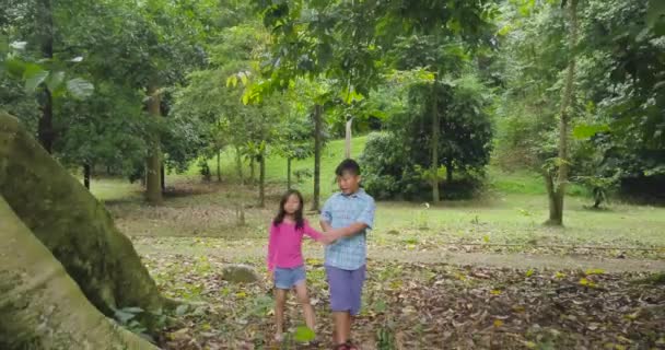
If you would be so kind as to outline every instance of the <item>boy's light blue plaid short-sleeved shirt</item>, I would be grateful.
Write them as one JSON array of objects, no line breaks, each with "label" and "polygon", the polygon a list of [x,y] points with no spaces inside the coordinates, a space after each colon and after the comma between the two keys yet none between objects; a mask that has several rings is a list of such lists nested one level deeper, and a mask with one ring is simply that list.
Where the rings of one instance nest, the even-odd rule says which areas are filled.
[{"label": "boy's light blue plaid short-sleeved shirt", "polygon": [[[330,223],[332,229],[346,228],[361,222],[372,229],[376,205],[374,198],[359,189],[353,195],[335,194],[324,205],[320,217]],[[366,232],[338,240],[326,246],[326,265],[345,270],[355,270],[365,265],[368,259]]]}]

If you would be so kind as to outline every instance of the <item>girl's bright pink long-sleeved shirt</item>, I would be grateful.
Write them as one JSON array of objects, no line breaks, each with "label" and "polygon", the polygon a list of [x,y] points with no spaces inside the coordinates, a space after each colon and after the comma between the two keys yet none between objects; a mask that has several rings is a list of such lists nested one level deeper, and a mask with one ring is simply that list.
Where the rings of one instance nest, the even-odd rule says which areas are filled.
[{"label": "girl's bright pink long-sleeved shirt", "polygon": [[302,230],[295,230],[295,223],[282,222],[279,225],[270,223],[270,241],[268,242],[268,269],[276,267],[294,268],[303,265],[303,235],[320,241],[323,234],[305,220]]}]

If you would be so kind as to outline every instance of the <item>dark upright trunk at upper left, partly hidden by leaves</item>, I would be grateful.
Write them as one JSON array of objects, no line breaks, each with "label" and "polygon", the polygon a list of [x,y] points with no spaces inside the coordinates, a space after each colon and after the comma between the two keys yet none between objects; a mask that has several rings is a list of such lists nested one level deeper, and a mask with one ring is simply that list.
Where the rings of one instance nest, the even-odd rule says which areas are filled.
[{"label": "dark upright trunk at upper left, partly hidden by leaves", "polygon": [[[54,58],[54,16],[51,2],[50,0],[39,0],[37,5],[36,27],[40,36],[42,57],[50,60]],[[54,129],[54,97],[46,84],[42,84],[40,95],[39,109],[42,110],[42,117],[38,121],[37,133],[42,147],[44,147],[46,152],[51,153],[56,138]]]}]

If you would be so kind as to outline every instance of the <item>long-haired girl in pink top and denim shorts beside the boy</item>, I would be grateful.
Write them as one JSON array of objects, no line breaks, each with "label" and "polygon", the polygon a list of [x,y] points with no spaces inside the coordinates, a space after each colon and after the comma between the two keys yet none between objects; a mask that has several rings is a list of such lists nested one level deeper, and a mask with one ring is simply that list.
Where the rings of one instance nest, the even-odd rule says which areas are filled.
[{"label": "long-haired girl in pink top and denim shorts beside the boy", "polygon": [[307,296],[305,284],[305,267],[302,255],[303,235],[329,243],[325,235],[312,229],[303,218],[303,196],[294,189],[288,190],[279,203],[279,211],[270,225],[270,241],[268,243],[268,273],[276,287],[275,318],[277,334],[275,339],[282,340],[284,304],[287,293],[295,289],[298,301],[303,305],[305,323],[314,330],[314,308]]}]

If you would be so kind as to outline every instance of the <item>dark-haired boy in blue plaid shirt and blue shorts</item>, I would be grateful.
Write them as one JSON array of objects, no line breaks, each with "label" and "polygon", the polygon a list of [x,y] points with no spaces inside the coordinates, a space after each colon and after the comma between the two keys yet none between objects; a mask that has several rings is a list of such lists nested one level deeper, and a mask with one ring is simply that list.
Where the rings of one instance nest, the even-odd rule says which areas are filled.
[{"label": "dark-haired boy in blue plaid shirt and blue shorts", "polygon": [[340,192],[324,205],[320,225],[330,241],[326,246],[326,276],[330,288],[330,308],[335,322],[335,349],[357,349],[351,341],[351,324],[360,313],[365,279],[366,230],[374,223],[374,199],[360,188],[360,166],[346,160],[337,166]]}]

